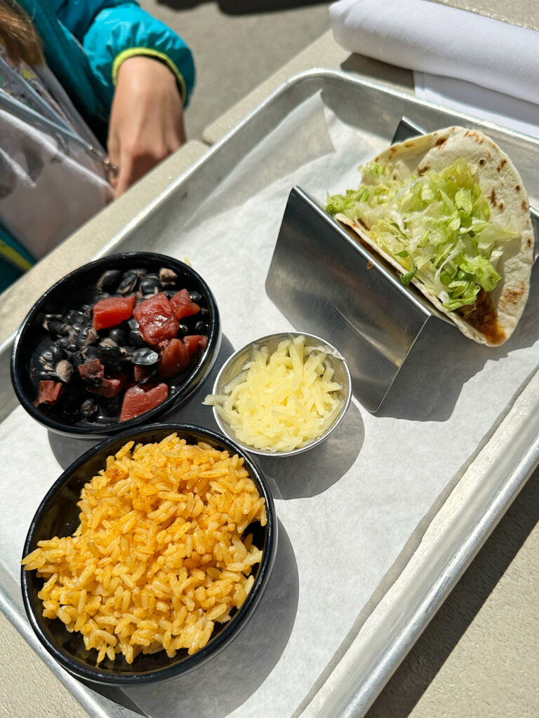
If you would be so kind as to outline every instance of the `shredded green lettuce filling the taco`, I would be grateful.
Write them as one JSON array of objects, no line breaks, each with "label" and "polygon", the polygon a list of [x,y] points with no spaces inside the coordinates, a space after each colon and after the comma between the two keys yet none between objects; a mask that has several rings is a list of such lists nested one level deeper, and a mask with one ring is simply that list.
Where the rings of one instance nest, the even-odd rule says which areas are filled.
[{"label": "shredded green lettuce filling the taco", "polygon": [[377,245],[400,258],[403,284],[414,277],[452,311],[474,304],[481,289],[501,279],[496,264],[502,246],[519,237],[489,205],[477,168],[464,157],[441,172],[394,180],[382,164],[360,167],[361,186],[328,195],[326,210],[363,225]]}]

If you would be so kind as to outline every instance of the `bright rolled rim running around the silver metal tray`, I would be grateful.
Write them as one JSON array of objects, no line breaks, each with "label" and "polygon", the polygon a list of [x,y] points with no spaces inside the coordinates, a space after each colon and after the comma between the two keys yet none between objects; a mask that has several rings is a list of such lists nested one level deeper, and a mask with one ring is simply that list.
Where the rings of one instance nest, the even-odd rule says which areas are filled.
[{"label": "bright rolled rim running around the silver metal tray", "polygon": [[[160,205],[167,202],[170,195],[173,195],[184,182],[186,182],[191,176],[199,172],[201,167],[203,167],[208,162],[211,162],[213,157],[215,157],[224,146],[229,144],[231,139],[234,139],[236,135],[241,134],[247,128],[247,126],[249,126],[250,123],[256,121],[257,118],[261,116],[268,107],[272,106],[273,103],[279,100],[281,95],[286,95],[289,91],[293,90],[296,85],[309,80],[320,80],[321,83],[323,83],[324,81],[337,80],[339,82],[343,81],[351,85],[364,86],[371,90],[382,92],[384,95],[400,98],[406,102],[412,102],[415,106],[418,106],[418,108],[425,107],[428,109],[443,111],[458,118],[461,118],[463,121],[485,127],[487,128],[487,130],[488,128],[492,128],[497,132],[510,136],[512,139],[515,139],[517,141],[523,141],[531,148],[539,151],[538,139],[522,134],[515,130],[507,129],[505,127],[497,125],[496,123],[481,120],[479,118],[475,118],[474,116],[466,115],[465,113],[451,111],[450,108],[446,108],[436,103],[423,101],[419,98],[416,98],[413,93],[398,90],[384,82],[368,80],[362,76],[345,72],[344,70],[333,70],[331,68],[325,67],[313,67],[309,70],[303,70],[300,73],[295,73],[294,75],[291,75],[290,78],[287,78],[287,80],[285,80],[278,88],[276,88],[269,95],[267,95],[267,97],[264,98],[264,100],[259,103],[251,112],[249,112],[247,116],[242,118],[241,121],[236,123],[236,125],[231,128],[226,134],[224,134],[224,136],[218,139],[215,144],[209,147],[206,153],[201,155],[201,157],[198,157],[198,159],[195,159],[195,161],[193,162],[193,164],[190,165],[190,167],[185,169],[184,172],[180,173],[178,177],[175,177],[175,179],[170,182],[170,185],[168,185],[165,190],[160,192],[160,194],[157,195],[154,200],[149,202],[149,204],[146,205],[139,213],[137,213],[137,215],[135,215],[132,220],[129,220],[129,222],[126,223],[126,225],[124,225],[121,230],[114,233],[114,235],[109,238],[109,241],[107,241],[101,247],[101,249],[97,253],[95,253],[93,259],[97,259],[102,256],[105,256],[106,254],[114,252],[119,243],[124,241],[126,236],[129,236],[129,233],[131,233],[132,230],[134,230],[134,228],[144,220],[144,218],[147,218],[157,212],[160,208]],[[318,90],[313,90],[313,94],[317,91],[320,91],[321,89],[323,90],[323,87],[318,88]],[[294,106],[292,106],[290,109],[293,109],[293,107]],[[241,159],[242,157],[239,157],[238,161],[241,161]],[[17,332],[13,332],[9,337],[6,338],[6,340],[4,340],[4,342],[1,342],[0,357],[3,356],[4,353],[6,353],[9,360],[9,355],[11,354],[11,347],[13,345],[14,338],[16,335]],[[508,410],[508,414],[505,419],[503,419],[502,424],[504,424],[520,398],[524,400],[526,390],[529,388],[530,384],[533,383],[534,379],[537,380],[538,377],[539,370],[528,381],[525,388],[522,388],[520,393],[517,393],[517,395],[515,395],[514,404],[512,404],[512,406]],[[539,405],[539,392],[536,401]],[[9,410],[9,413],[10,412],[11,409]],[[539,417],[539,411],[535,412],[535,416]],[[1,419],[1,421],[3,421],[3,419]],[[497,426],[497,428],[494,429],[491,437],[489,437],[489,442],[487,442],[487,446],[492,441],[492,439],[495,438],[500,428],[501,425]],[[535,436],[537,437],[538,435],[539,426],[538,430],[535,431]],[[487,449],[487,446],[483,447],[479,451],[479,454],[482,454],[482,452]],[[479,458],[479,454],[476,458]],[[468,567],[468,565],[474,559],[474,556],[476,556],[477,552],[484,544],[484,541],[486,541],[490,533],[492,533],[499,519],[502,518],[505,511],[512,503],[512,500],[516,497],[517,493],[525,484],[526,480],[528,480],[528,477],[530,477],[533,470],[535,469],[535,467],[537,467],[538,464],[539,439],[536,439],[535,443],[530,445],[530,447],[528,448],[528,453],[526,454],[526,456],[519,462],[517,470],[512,472],[511,477],[509,477],[505,481],[504,488],[499,492],[498,495],[499,505],[497,506],[497,509],[489,513],[488,516],[484,516],[482,521],[476,523],[474,532],[471,534],[471,537],[466,546],[464,546],[464,548],[466,549],[464,553],[461,552],[459,556],[456,556],[453,562],[448,565],[446,573],[443,575],[441,574],[437,582],[438,588],[433,589],[430,592],[431,597],[430,602],[428,602],[428,605],[421,608],[420,615],[415,616],[414,622],[409,624],[409,628],[405,627],[405,630],[402,630],[399,640],[397,640],[395,643],[393,643],[393,645],[388,647],[387,652],[384,654],[382,659],[378,661],[377,668],[374,668],[372,671],[370,671],[368,681],[359,686],[359,689],[357,689],[354,695],[351,696],[351,700],[348,701],[346,704],[342,704],[340,707],[332,707],[327,702],[329,699],[331,699],[331,692],[334,693],[334,691],[332,689],[332,691],[330,691],[330,694],[324,697],[323,689],[327,686],[327,680],[324,681],[321,685],[321,688],[315,694],[313,694],[313,697],[312,699],[310,699],[309,702],[307,702],[307,699],[305,699],[303,703],[303,709],[300,709],[300,715],[302,716],[302,718],[310,718],[310,716],[318,716],[320,718],[322,716],[328,718],[330,716],[346,716],[346,718],[351,718],[352,716],[360,717],[361,715],[364,715],[365,712],[367,712],[379,692],[382,691],[384,685],[390,679],[392,673],[395,671],[402,659],[405,658],[407,652],[410,650],[413,643],[415,643],[415,640],[417,640],[420,633],[422,633],[422,631],[428,624],[430,618],[433,617],[434,613],[436,612],[436,610],[438,610],[438,607],[441,605],[443,600],[446,599],[453,585],[456,584],[456,582],[466,570],[466,567]],[[464,475],[459,478],[451,493],[446,496],[446,498],[443,500],[443,503],[438,507],[436,513],[433,515],[432,518],[430,518],[428,528],[433,525],[434,521],[436,520],[436,517],[443,511],[443,508],[448,505],[451,496],[454,495],[454,492],[459,488],[459,485],[461,485],[461,482],[464,479]],[[425,536],[427,531],[425,531]],[[405,574],[406,569],[408,569],[408,567],[410,566],[412,559],[410,559],[407,566],[402,570],[401,574],[399,575],[395,583],[392,585],[392,587],[387,589],[384,595],[382,595],[379,602],[374,607],[372,614],[369,615],[364,625],[367,625],[374,613],[379,610],[379,607],[382,605],[387,596],[390,595],[390,592],[397,584],[397,581],[402,577],[403,574]],[[3,572],[3,567],[1,567],[1,565],[0,571]],[[68,687],[70,692],[72,692],[75,699],[77,699],[80,704],[82,704],[83,707],[85,707],[85,709],[92,716],[94,716],[95,718],[106,718],[107,715],[111,715],[110,712],[105,712],[104,707],[101,706],[97,701],[95,701],[95,699],[93,699],[93,695],[95,694],[89,694],[85,686],[80,686],[77,681],[70,679],[70,676],[65,674],[62,669],[59,669],[59,667],[54,661],[47,661],[47,656],[42,656],[39,642],[37,641],[37,638],[34,636],[33,632],[29,630],[29,625],[26,625],[24,617],[20,615],[20,612],[17,609],[16,600],[14,600],[13,597],[4,594],[4,587],[1,586],[1,584],[0,610],[2,610],[6,617],[8,617],[8,620],[11,620],[11,618],[13,619],[11,620],[11,623],[14,625],[15,628],[17,628],[23,638],[27,640],[27,643],[29,643],[29,645],[34,648],[34,651],[36,651],[38,655],[40,655],[44,659],[47,666],[58,676],[61,681],[63,681],[63,683]],[[359,633],[361,633],[361,630]],[[343,658],[346,658],[346,653],[344,654]],[[339,663],[341,663],[341,661],[339,661]],[[336,668],[338,668],[338,665],[336,666]],[[328,678],[331,677],[334,672],[335,671],[332,671]],[[317,701],[319,702],[319,699],[323,699],[324,702],[326,702],[326,705],[317,704]],[[119,704],[116,704],[116,709],[118,711],[118,715],[125,715],[124,707]],[[313,710],[315,710],[314,713]]]}]

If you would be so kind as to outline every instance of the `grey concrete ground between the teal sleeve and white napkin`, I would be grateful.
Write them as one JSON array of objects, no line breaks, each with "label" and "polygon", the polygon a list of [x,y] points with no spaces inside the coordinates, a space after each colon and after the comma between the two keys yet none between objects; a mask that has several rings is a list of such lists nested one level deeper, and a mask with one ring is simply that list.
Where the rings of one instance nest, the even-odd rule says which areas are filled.
[{"label": "grey concrete ground between the teal sleeve and white napkin", "polygon": [[197,83],[186,112],[189,139],[329,28],[328,2],[141,0],[195,56]]}]

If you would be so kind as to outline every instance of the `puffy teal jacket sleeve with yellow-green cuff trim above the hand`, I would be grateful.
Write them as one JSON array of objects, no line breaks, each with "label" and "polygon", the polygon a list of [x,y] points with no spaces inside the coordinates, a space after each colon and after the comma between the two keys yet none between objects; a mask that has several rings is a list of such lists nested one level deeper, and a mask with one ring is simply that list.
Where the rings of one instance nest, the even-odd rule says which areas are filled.
[{"label": "puffy teal jacket sleeve with yellow-green cuff trim above the hand", "polygon": [[176,75],[184,105],[195,84],[193,55],[183,39],[134,1],[56,0],[57,19],[82,43],[101,93],[112,102],[121,62],[151,55]]}]

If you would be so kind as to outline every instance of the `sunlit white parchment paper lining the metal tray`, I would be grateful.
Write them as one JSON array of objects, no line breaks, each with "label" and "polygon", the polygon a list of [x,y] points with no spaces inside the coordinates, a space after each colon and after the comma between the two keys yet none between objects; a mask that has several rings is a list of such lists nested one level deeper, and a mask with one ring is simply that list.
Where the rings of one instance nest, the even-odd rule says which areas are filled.
[{"label": "sunlit white parchment paper lining the metal tray", "polygon": [[[219,364],[232,348],[291,328],[264,292],[290,188],[300,185],[323,200],[327,191],[354,187],[358,165],[384,144],[345,126],[315,96],[226,177],[172,245],[155,239],[151,248],[188,256],[211,286],[224,332]],[[280,538],[252,621],[206,666],[163,686],[129,689],[131,701],[156,718],[285,718],[300,712],[328,664],[359,630],[359,613],[420,520],[538,366],[536,284],[517,331],[502,348],[476,345],[433,322],[377,416],[354,399],[321,447],[261,462],[276,499]],[[200,402],[216,370],[173,419],[215,426],[211,409]],[[14,577],[29,522],[60,474],[60,462],[86,448],[50,437],[22,409],[4,421],[0,546]],[[116,700],[121,703],[120,696]]]}]

